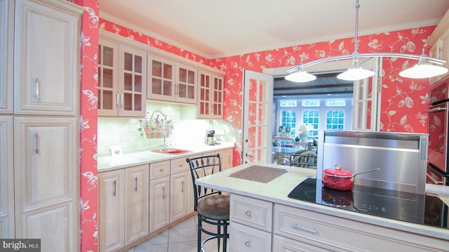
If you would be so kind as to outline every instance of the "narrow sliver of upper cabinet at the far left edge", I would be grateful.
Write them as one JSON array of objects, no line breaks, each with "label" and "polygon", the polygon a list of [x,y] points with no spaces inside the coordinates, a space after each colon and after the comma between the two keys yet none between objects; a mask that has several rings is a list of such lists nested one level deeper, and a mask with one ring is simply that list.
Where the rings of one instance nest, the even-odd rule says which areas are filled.
[{"label": "narrow sliver of upper cabinet at the far left edge", "polygon": [[13,112],[14,2],[0,0],[0,113]]}]

